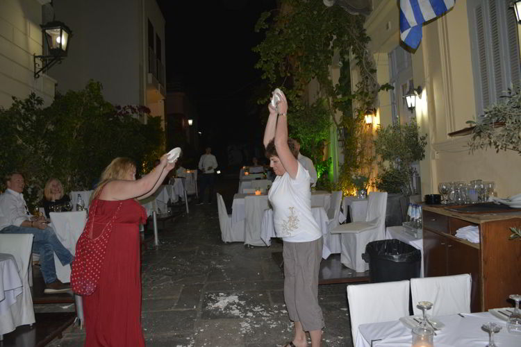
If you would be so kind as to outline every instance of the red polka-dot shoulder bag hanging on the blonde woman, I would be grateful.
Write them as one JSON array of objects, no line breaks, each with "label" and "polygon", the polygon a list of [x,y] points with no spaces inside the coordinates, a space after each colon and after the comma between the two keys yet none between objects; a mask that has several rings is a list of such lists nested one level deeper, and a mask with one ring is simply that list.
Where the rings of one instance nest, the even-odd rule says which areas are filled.
[{"label": "red polka-dot shoulder bag hanging on the blonde woman", "polygon": [[98,208],[99,200],[92,201],[89,209],[89,217],[85,228],[76,243],[76,255],[74,262],[71,263],[71,288],[78,295],[88,296],[94,293],[99,282],[101,267],[103,266],[105,253],[107,251],[108,240],[112,232],[114,221],[117,217],[123,202],[119,203],[114,216],[106,225],[101,234],[95,239],[92,238],[94,228],[94,215]]}]

